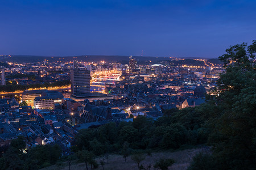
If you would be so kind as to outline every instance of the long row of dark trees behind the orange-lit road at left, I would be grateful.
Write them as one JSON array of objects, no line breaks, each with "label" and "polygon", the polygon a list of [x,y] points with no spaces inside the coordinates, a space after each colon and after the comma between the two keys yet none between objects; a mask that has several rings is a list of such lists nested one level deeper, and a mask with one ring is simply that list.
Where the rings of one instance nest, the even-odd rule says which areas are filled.
[{"label": "long row of dark trees behind the orange-lit road at left", "polygon": [[53,83],[44,83],[44,84],[30,84],[30,85],[5,85],[0,86],[0,92],[15,92],[15,91],[24,91],[29,88],[48,88],[48,87],[61,87],[69,86],[70,80],[62,80]]}]

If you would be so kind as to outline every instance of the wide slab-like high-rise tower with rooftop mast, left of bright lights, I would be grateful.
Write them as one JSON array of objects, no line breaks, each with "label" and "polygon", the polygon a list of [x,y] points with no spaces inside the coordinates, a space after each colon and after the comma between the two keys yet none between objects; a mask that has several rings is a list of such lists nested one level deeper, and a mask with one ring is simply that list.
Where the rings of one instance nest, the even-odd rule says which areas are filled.
[{"label": "wide slab-like high-rise tower with rooftop mast, left of bright lights", "polygon": [[77,62],[73,62],[71,70],[71,93],[86,94],[90,92],[90,71],[85,67],[79,67]]}]

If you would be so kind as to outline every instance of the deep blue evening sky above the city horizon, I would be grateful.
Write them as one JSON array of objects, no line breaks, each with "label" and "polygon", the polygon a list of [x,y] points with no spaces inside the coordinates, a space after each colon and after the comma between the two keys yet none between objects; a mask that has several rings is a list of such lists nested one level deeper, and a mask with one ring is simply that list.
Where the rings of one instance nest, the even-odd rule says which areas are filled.
[{"label": "deep blue evening sky above the city horizon", "polygon": [[256,40],[256,1],[0,0],[0,54],[218,57]]}]

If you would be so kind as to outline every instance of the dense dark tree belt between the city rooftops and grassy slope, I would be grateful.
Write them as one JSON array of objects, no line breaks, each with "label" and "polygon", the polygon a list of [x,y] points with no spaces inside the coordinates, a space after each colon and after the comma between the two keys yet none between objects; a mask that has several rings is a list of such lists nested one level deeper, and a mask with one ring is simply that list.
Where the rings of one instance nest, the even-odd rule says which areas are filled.
[{"label": "dense dark tree belt between the city rooftops and grassy slope", "polygon": [[[204,109],[202,109],[204,108]],[[197,108],[172,109],[163,117],[138,116],[133,122],[111,123],[99,128],[80,130],[73,151],[92,151],[95,155],[122,152],[124,143],[130,150],[170,150],[207,142],[209,131],[203,128],[204,117],[211,112],[205,104]]]}]

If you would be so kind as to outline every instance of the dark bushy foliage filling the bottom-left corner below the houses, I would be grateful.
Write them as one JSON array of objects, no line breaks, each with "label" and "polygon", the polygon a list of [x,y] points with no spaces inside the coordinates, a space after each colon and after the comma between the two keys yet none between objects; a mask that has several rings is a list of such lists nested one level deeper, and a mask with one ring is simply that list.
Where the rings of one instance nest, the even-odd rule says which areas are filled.
[{"label": "dark bushy foliage filling the bottom-left corner below the houses", "polygon": [[11,141],[10,147],[0,159],[0,169],[40,169],[60,159],[61,149],[58,145],[40,145],[22,154],[25,146],[22,136]]}]

